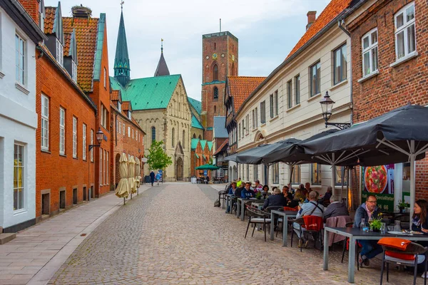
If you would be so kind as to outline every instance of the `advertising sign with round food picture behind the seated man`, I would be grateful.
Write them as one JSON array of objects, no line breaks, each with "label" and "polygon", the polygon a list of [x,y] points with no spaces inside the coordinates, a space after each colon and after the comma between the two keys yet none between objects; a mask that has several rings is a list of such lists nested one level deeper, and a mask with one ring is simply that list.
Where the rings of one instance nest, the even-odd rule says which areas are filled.
[{"label": "advertising sign with round food picture behind the seated man", "polygon": [[367,195],[377,198],[381,211],[394,211],[394,165],[362,167],[362,195],[364,203]]}]

